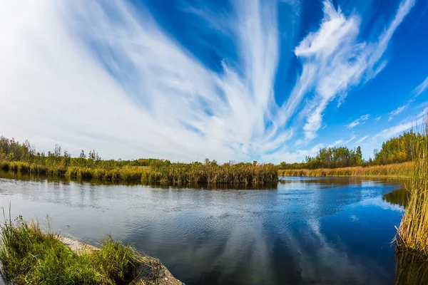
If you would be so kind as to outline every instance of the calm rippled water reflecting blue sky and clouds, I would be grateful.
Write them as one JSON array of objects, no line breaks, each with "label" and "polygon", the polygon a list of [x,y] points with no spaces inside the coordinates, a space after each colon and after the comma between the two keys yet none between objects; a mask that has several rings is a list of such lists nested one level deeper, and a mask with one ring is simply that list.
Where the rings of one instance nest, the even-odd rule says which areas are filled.
[{"label": "calm rippled water reflecting blue sky and clouds", "polygon": [[404,208],[384,195],[399,181],[284,180],[206,190],[3,176],[0,205],[42,224],[49,214],[54,231],[94,245],[111,233],[186,284],[393,283]]}]

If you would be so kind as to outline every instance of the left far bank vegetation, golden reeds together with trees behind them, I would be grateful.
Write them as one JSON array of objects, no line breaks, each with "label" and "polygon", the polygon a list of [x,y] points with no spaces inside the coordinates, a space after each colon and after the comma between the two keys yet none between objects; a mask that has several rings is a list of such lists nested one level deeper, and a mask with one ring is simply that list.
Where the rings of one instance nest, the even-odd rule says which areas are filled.
[{"label": "left far bank vegetation, golden reeds together with trees behind them", "polygon": [[56,145],[53,152],[37,152],[28,140],[0,138],[0,169],[36,175],[56,175],[111,181],[140,181],[167,184],[250,184],[262,185],[278,180],[273,164],[235,163],[219,165],[215,160],[171,163],[155,158],[140,160],[102,160],[98,152],[78,157]]}]

